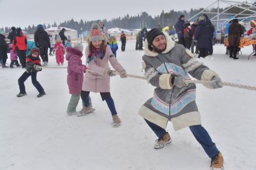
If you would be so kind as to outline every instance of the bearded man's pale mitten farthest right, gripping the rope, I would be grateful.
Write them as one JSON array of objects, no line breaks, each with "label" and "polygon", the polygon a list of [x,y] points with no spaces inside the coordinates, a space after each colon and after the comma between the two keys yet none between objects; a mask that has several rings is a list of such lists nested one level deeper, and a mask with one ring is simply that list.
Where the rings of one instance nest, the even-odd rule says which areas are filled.
[{"label": "bearded man's pale mitten farthest right, gripping the rope", "polygon": [[213,70],[204,70],[201,76],[201,80],[206,80],[208,82],[202,83],[205,87],[210,89],[222,88],[223,83],[217,73]]}]

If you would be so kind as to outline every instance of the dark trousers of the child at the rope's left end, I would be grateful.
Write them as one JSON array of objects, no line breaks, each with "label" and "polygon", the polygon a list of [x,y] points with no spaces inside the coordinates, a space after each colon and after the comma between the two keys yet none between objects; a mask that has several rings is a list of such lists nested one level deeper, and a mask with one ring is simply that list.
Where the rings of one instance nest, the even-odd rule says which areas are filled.
[{"label": "dark trousers of the child at the rope's left end", "polygon": [[34,72],[27,73],[27,71],[25,71],[22,74],[22,76],[20,76],[19,79],[18,79],[20,93],[26,93],[24,82],[30,76],[31,76],[31,80],[32,80],[32,83],[33,83],[34,87],[36,87],[36,89],[39,93],[42,93],[44,90],[43,90],[43,87],[40,85],[40,83],[37,81],[37,73],[34,73]]}]

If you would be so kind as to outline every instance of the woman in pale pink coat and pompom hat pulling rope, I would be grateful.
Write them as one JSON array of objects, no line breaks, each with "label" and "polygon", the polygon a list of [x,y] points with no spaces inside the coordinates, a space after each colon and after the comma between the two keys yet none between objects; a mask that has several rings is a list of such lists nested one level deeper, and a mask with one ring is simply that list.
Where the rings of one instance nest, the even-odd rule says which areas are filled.
[{"label": "woman in pale pink coat and pompom hat pulling rope", "polygon": [[[82,115],[91,112],[88,97],[90,92],[100,93],[102,100],[107,102],[113,118],[113,127],[120,126],[120,119],[117,116],[114,101],[110,95],[110,76],[115,76],[116,71],[120,77],[127,77],[126,71],[114,57],[110,47],[107,45],[107,38],[102,34],[98,24],[93,23],[89,37],[87,37],[86,59],[88,70],[84,75],[81,98],[84,101]],[[108,61],[114,68],[110,70]]]}]

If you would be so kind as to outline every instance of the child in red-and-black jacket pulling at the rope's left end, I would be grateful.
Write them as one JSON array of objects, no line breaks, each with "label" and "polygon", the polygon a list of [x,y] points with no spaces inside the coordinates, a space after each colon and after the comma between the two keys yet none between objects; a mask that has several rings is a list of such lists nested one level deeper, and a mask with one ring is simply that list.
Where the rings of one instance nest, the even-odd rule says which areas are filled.
[{"label": "child in red-and-black jacket pulling at the rope's left end", "polygon": [[22,76],[19,77],[19,94],[17,94],[17,97],[26,96],[26,90],[24,82],[28,79],[28,77],[31,76],[32,83],[34,87],[36,87],[37,91],[39,91],[39,95],[37,97],[42,97],[45,95],[45,90],[43,90],[43,87],[40,85],[40,83],[37,81],[37,72],[42,70],[42,65],[40,62],[40,51],[38,48],[33,48],[30,52],[30,55],[26,57],[26,71],[22,74]]}]

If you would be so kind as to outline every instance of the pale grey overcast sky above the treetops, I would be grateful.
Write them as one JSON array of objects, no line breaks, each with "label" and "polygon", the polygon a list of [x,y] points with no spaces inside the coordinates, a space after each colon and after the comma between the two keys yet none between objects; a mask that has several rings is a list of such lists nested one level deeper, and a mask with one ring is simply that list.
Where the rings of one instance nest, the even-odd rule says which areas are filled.
[{"label": "pale grey overcast sky above the treetops", "polygon": [[[248,2],[254,2],[249,0]],[[191,8],[204,8],[214,0],[0,0],[0,27],[38,25],[39,23],[58,23],[64,20],[110,20],[114,17],[122,17],[125,14],[134,16],[146,11],[152,16],[158,15],[162,10],[190,10]],[[220,7],[226,4],[220,3]]]}]

